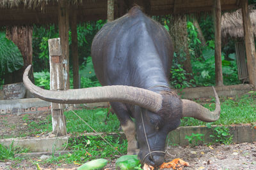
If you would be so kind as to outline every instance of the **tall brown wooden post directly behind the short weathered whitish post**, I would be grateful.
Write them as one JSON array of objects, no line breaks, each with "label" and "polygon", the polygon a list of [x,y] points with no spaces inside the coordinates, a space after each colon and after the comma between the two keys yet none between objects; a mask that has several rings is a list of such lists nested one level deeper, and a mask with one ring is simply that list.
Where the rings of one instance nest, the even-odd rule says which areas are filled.
[{"label": "tall brown wooden post directly behind the short weathered whitish post", "polygon": [[59,33],[61,39],[61,49],[63,56],[64,65],[64,78],[65,87],[69,89],[69,48],[68,48],[68,2],[67,0],[60,0],[58,3],[58,22],[59,22]]}]

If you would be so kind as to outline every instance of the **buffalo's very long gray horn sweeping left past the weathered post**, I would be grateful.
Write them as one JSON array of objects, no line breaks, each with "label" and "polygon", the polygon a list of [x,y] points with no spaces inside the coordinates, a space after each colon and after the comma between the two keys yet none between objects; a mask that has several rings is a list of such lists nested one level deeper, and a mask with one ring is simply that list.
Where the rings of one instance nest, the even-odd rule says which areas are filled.
[{"label": "buffalo's very long gray horn sweeping left past the weathered post", "polygon": [[26,88],[35,96],[52,103],[97,103],[118,101],[136,104],[157,113],[162,107],[162,96],[150,90],[124,85],[70,89],[64,91],[44,90],[34,85],[28,78],[29,65],[23,74]]}]

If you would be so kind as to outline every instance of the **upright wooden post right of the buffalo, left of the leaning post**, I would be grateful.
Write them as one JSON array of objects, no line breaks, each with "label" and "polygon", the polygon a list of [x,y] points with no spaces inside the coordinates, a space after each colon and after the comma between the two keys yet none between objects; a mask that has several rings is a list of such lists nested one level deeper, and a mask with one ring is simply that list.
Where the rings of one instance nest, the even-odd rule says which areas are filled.
[{"label": "upright wooden post right of the buffalo, left of the leaning post", "polygon": [[213,18],[215,35],[215,74],[216,86],[223,85],[222,61],[221,61],[221,2],[213,0]]}]

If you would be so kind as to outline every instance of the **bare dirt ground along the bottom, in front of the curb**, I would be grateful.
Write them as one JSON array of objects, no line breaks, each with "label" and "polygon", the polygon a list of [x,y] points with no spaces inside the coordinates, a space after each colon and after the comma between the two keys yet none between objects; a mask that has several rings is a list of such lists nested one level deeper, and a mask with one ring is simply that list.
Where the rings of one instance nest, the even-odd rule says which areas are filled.
[{"label": "bare dirt ground along the bottom, in front of the curb", "polygon": [[[166,162],[169,162],[175,158],[180,158],[189,162],[189,167],[184,167],[184,170],[256,169],[256,143],[196,147],[172,146],[168,148],[168,152],[170,154],[166,153]],[[29,160],[22,160],[21,162],[0,162],[0,169],[36,169],[36,165],[33,162],[38,159],[40,158],[38,157]],[[57,166],[54,164],[44,164],[44,166],[40,165],[40,167],[41,169],[76,169],[78,165],[62,164],[61,166]],[[109,160],[109,164],[106,166],[106,168],[115,169],[115,160]]]}]

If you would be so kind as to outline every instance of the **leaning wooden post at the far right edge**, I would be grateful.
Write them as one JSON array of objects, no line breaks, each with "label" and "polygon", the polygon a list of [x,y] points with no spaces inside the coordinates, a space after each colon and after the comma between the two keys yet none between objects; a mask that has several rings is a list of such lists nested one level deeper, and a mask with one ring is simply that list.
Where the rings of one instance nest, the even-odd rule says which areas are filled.
[{"label": "leaning wooden post at the far right edge", "polygon": [[241,6],[243,15],[244,41],[246,48],[249,81],[254,86],[254,90],[256,90],[256,54],[255,43],[253,39],[252,23],[250,13],[248,11],[248,1],[241,1]]}]

